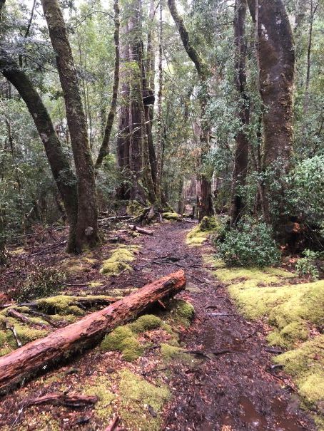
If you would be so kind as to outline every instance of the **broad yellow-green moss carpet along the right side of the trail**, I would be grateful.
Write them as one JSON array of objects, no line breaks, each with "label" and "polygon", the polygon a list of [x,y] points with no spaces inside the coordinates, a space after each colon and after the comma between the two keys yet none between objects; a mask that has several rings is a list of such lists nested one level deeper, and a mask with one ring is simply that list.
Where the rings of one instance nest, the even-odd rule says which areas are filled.
[{"label": "broad yellow-green moss carpet along the right side of the trail", "polygon": [[[213,259],[208,257],[213,266]],[[292,375],[305,404],[324,400],[324,280],[300,283],[295,274],[276,268],[226,268],[215,261],[213,273],[228,286],[238,309],[249,319],[263,318],[272,331],[271,346],[285,353],[274,358]],[[317,420],[318,419],[317,417]]]}]

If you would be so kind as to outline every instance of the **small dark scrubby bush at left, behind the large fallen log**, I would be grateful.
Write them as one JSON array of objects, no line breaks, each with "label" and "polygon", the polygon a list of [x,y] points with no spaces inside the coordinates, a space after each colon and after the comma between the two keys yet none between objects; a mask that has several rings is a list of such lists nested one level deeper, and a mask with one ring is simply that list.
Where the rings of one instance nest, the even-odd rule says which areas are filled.
[{"label": "small dark scrubby bush at left, behind the large fallen log", "polygon": [[51,296],[59,291],[65,279],[64,272],[58,269],[35,265],[26,280],[16,289],[13,296],[20,302]]}]

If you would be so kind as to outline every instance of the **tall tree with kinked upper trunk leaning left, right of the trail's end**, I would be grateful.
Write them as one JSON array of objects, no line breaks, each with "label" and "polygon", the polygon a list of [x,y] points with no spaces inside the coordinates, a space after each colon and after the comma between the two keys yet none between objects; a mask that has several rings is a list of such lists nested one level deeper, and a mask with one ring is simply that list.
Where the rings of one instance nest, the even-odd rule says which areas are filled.
[{"label": "tall tree with kinked upper trunk leaning left, right of the trail's end", "polygon": [[[186,25],[184,24],[182,16],[178,14],[178,10],[176,9],[176,1],[175,0],[168,0],[168,7],[171,12],[171,16],[173,18],[173,21],[176,23],[176,26],[178,28],[181,41],[183,43],[183,47],[186,50],[186,53],[188,54],[189,58],[191,58],[191,61],[193,61],[196,71],[199,76],[199,80],[201,82],[201,90],[199,95],[199,101],[201,105],[201,136],[200,136],[200,142],[201,142],[201,157],[203,157],[208,154],[209,150],[211,149],[210,144],[210,128],[208,125],[208,122],[206,121],[205,114],[206,114],[206,107],[208,103],[208,67],[206,65],[206,62],[203,61],[203,58],[198,53],[197,49],[193,46],[191,42],[191,38],[189,36],[188,30],[186,28]],[[199,213],[199,219],[203,219],[205,216],[211,216],[214,214],[213,209],[213,197],[211,194],[211,175],[208,175],[206,173],[203,173],[201,175],[201,211]]]}]

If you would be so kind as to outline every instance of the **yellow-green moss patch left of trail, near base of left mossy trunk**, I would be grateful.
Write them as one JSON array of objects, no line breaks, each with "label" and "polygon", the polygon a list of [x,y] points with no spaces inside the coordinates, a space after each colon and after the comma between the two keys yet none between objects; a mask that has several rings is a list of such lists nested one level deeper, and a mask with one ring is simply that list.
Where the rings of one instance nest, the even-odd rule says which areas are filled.
[{"label": "yellow-green moss patch left of trail, near base of left mossy trunk", "polygon": [[129,262],[135,260],[135,252],[138,246],[120,246],[118,249],[111,251],[109,259],[103,261],[103,266],[100,270],[101,274],[106,276],[118,276],[123,271],[131,271],[132,268]]}]

